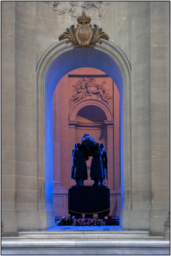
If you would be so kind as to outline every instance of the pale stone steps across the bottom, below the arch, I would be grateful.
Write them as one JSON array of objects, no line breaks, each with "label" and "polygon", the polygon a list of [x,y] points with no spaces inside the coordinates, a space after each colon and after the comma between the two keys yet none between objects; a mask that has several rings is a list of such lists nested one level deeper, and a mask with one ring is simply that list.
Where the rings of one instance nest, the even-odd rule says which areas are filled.
[{"label": "pale stone steps across the bottom, below the arch", "polygon": [[40,231],[2,237],[1,255],[170,255],[169,241],[148,231]]}]

